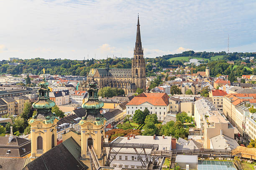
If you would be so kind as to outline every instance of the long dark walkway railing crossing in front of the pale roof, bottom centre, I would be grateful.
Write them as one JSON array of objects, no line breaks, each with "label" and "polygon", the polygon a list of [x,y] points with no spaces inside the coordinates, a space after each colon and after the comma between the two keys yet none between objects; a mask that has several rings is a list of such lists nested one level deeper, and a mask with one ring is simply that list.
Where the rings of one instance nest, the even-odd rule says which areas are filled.
[{"label": "long dark walkway railing crossing in front of the pale roof, bottom centre", "polygon": [[103,143],[103,147],[158,149],[157,144],[141,144],[141,143]]}]

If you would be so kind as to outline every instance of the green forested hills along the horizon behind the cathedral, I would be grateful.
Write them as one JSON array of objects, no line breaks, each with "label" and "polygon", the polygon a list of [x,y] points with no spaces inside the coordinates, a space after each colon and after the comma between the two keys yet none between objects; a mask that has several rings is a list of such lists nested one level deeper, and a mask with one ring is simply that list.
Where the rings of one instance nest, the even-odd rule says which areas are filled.
[{"label": "green forested hills along the horizon behind the cathedral", "polygon": [[[145,58],[146,61],[146,73],[147,76],[154,75],[156,71],[162,71],[161,68],[169,67],[170,65],[183,65],[184,62],[189,61],[190,58],[204,59],[205,63],[209,63],[211,75],[216,75],[218,72],[220,74],[228,73],[225,71],[225,68],[229,67],[227,63],[228,60],[235,61],[234,67],[230,67],[230,71],[236,69],[244,70],[239,72],[237,76],[241,76],[242,73],[250,74],[252,70],[249,68],[253,65],[253,62],[250,60],[241,60],[241,57],[254,57],[256,61],[256,53],[252,52],[194,52],[194,51],[185,51],[181,54],[174,55],[164,55],[156,58]],[[221,61],[221,62],[220,62]],[[46,60],[42,58],[26,59],[26,60],[13,60],[11,62],[18,62],[19,65],[9,65],[8,60],[0,61],[0,74],[27,74],[32,73],[35,75],[42,74],[43,68],[46,69],[46,72],[51,75],[80,75],[85,76],[90,71],[91,68],[104,68],[106,66],[107,60],[61,60],[61,59],[52,59]],[[223,71],[220,71],[221,67]],[[241,65],[241,62],[246,62],[246,65]],[[153,65],[156,64],[156,66]],[[221,64],[220,64],[221,63]],[[225,64],[224,64],[225,63]],[[131,68],[131,58],[118,58],[112,59],[108,58],[108,65],[114,68]],[[224,66],[225,67],[224,67]],[[239,67],[238,67],[239,66]],[[195,66],[193,66],[195,67]],[[216,68],[215,68],[216,67]],[[246,68],[245,68],[246,67]],[[154,69],[153,69],[154,68]],[[200,65],[197,68],[198,71],[205,69],[205,65]],[[218,74],[217,73],[217,74]]]}]

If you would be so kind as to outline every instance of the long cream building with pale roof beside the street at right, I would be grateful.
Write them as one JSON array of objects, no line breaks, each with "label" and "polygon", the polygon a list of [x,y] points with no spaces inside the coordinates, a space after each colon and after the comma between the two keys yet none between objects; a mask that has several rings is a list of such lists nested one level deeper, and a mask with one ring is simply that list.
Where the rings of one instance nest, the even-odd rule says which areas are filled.
[{"label": "long cream building with pale roof beside the street at right", "polygon": [[[206,149],[233,149],[238,145],[234,141],[235,128],[205,97],[195,101],[195,122],[197,128],[204,130]],[[218,140],[221,145],[217,146],[215,143]]]}]

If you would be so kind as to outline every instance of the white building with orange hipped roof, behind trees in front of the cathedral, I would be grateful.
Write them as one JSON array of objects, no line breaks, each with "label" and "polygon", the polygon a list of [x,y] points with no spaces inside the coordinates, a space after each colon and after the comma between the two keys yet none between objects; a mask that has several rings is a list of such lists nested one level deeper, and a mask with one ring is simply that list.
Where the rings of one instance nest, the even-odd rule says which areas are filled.
[{"label": "white building with orange hipped roof, behind trees in front of the cathedral", "polygon": [[133,116],[136,110],[145,108],[150,114],[155,113],[158,120],[164,120],[170,111],[169,96],[166,93],[142,93],[126,104],[126,114]]}]

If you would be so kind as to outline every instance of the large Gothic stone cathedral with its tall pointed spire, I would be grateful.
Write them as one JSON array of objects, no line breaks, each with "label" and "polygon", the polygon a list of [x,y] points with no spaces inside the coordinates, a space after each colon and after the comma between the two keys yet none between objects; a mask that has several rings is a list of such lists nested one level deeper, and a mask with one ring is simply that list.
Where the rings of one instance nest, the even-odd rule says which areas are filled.
[{"label": "large Gothic stone cathedral with its tall pointed spire", "polygon": [[117,87],[125,93],[136,92],[137,88],[146,89],[146,64],[141,44],[141,31],[138,18],[136,43],[133,52],[132,67],[130,68],[106,68],[91,69],[87,75],[87,82],[81,83],[79,90],[87,90],[87,85],[94,77],[99,89],[103,87]]}]

